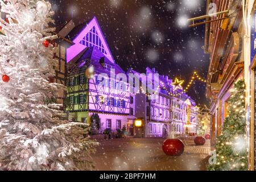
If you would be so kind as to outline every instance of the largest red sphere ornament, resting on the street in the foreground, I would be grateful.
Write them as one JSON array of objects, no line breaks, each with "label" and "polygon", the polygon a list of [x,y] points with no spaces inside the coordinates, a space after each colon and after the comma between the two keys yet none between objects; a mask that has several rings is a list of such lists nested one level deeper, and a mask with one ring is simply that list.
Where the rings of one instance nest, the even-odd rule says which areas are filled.
[{"label": "largest red sphere ornament, resting on the street in the foreground", "polygon": [[166,139],[162,149],[166,155],[180,156],[184,152],[184,147],[184,143],[180,139]]}]

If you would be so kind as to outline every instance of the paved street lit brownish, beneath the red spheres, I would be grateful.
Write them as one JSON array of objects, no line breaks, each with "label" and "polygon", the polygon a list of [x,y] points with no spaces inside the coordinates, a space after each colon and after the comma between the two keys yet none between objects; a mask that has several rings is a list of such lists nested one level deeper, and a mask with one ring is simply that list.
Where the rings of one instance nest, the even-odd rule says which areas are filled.
[{"label": "paved street lit brownish, beneath the red spheres", "polygon": [[185,144],[181,156],[167,156],[162,151],[163,138],[126,138],[99,140],[94,154],[95,170],[206,170],[210,152],[209,140],[195,146],[193,137],[181,138]]}]

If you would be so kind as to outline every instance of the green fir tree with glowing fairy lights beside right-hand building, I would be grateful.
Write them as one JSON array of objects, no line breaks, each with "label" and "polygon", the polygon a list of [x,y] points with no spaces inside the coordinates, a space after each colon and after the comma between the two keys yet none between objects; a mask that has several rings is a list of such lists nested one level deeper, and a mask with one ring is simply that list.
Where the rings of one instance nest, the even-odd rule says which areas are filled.
[{"label": "green fir tree with glowing fairy lights beside right-hand building", "polygon": [[208,166],[211,171],[245,171],[248,169],[244,80],[234,84],[228,112],[222,133],[216,140],[216,164]]}]

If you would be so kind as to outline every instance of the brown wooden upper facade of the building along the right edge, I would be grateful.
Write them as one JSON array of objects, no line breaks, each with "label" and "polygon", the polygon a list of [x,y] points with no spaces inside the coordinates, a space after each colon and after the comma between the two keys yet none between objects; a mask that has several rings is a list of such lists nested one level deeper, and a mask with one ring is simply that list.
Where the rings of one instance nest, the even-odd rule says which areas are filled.
[{"label": "brown wooden upper facade of the building along the right edge", "polygon": [[[232,2],[226,0],[213,1],[217,11],[232,8]],[[210,1],[208,1],[208,4]],[[207,11],[209,11],[207,7]],[[243,24],[241,7],[234,12],[232,18],[225,14],[213,16],[213,21],[205,27],[205,53],[210,55],[206,95],[210,100],[210,130],[212,146],[222,133],[225,118],[229,115],[229,98],[232,96],[234,82],[243,79]],[[221,19],[222,18],[222,19]]]}]

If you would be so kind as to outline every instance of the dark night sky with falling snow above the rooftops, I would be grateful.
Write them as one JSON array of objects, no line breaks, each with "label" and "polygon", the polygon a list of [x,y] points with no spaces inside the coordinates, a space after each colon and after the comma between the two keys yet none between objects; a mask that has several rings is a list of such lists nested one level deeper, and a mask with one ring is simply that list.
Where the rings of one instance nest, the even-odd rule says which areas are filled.
[{"label": "dark night sky with falling snow above the rooftops", "polygon": [[[56,25],[73,18],[76,24],[96,16],[115,62],[125,71],[144,73],[155,67],[160,75],[185,80],[194,71],[207,78],[204,26],[188,28],[187,18],[205,14],[205,0],[50,0]],[[205,84],[196,81],[189,96],[207,104]]]}]

